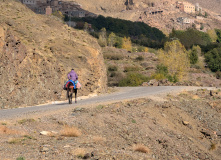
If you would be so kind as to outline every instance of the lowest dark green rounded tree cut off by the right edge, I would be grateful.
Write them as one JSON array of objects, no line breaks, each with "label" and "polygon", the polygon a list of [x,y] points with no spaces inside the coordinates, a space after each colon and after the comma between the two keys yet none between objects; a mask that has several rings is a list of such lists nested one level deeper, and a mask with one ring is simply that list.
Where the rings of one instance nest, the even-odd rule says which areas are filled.
[{"label": "lowest dark green rounded tree cut off by the right edge", "polygon": [[221,71],[221,47],[205,54],[205,62],[213,72]]}]

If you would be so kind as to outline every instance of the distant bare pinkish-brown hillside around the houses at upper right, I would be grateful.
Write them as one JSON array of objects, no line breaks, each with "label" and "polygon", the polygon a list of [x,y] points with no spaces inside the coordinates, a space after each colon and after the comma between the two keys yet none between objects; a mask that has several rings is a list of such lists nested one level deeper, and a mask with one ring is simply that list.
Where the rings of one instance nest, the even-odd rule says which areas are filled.
[{"label": "distant bare pinkish-brown hillside around the houses at upper right", "polygon": [[[200,26],[203,24],[203,31],[220,28],[221,17],[218,16],[220,1],[213,2],[213,6],[217,4],[215,9],[211,7],[205,1],[199,2],[200,6],[203,7],[202,14],[205,11],[209,14],[207,18],[196,17],[196,14],[189,14],[181,12],[176,8],[177,0],[113,0],[113,1],[86,1],[86,0],[74,0],[82,5],[82,8],[101,14],[104,16],[110,16],[115,18],[121,18],[131,21],[143,21],[144,23],[156,27],[168,34],[172,28],[175,29],[186,29],[192,27],[192,24],[184,24],[177,21],[179,17],[188,18],[194,20],[195,27],[200,30]],[[193,2],[195,5],[196,2]],[[204,8],[206,7],[206,8]],[[208,10],[208,9],[210,10]]]}]

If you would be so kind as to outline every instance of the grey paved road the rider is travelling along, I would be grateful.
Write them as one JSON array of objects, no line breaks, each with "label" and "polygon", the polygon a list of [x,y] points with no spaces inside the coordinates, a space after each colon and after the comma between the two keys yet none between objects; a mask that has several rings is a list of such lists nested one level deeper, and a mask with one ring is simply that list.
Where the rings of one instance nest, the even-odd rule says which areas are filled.
[{"label": "grey paved road the rider is travelling along", "polygon": [[10,120],[27,117],[28,115],[39,115],[51,111],[58,111],[62,109],[70,109],[82,105],[91,105],[96,103],[105,103],[109,101],[121,101],[125,99],[142,98],[154,96],[162,93],[170,93],[173,91],[194,90],[197,87],[182,87],[182,86],[158,86],[158,87],[125,87],[119,88],[119,91],[96,96],[84,100],[79,100],[77,104],[69,105],[67,103],[57,103],[50,105],[32,106],[25,108],[4,109],[0,110],[0,120]]}]

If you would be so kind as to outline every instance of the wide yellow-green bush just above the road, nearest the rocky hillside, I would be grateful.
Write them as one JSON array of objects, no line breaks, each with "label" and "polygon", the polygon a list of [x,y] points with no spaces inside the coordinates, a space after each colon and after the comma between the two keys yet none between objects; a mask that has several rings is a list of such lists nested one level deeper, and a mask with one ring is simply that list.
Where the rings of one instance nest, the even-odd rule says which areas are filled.
[{"label": "wide yellow-green bush just above the road, nearest the rocky hillside", "polygon": [[139,86],[143,82],[149,81],[150,78],[139,73],[130,73],[126,78],[119,82],[119,86]]}]

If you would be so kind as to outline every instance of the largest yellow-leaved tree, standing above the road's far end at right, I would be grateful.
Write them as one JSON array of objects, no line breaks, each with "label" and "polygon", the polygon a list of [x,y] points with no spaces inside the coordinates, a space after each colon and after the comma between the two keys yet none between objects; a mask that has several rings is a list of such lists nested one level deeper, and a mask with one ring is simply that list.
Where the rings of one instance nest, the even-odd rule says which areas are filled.
[{"label": "largest yellow-leaved tree, standing above the road's far end at right", "polygon": [[159,51],[159,60],[168,68],[169,74],[179,80],[183,79],[190,67],[186,49],[178,40],[165,43],[164,50]]}]

